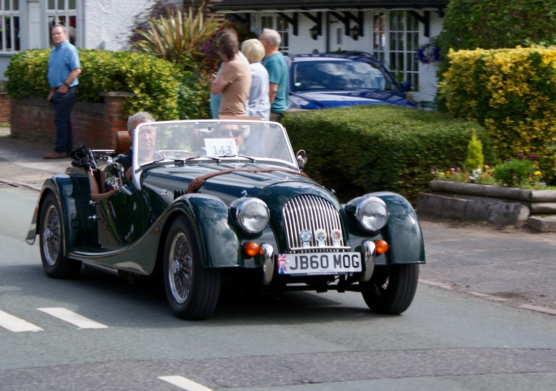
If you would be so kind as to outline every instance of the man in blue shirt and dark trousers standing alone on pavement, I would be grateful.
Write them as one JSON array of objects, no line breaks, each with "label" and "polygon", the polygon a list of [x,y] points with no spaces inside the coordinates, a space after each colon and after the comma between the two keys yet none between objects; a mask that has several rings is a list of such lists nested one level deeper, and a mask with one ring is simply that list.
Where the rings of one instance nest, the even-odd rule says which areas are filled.
[{"label": "man in blue shirt and dark trousers standing alone on pavement", "polygon": [[44,159],[68,157],[73,149],[71,111],[77,98],[77,77],[81,73],[81,63],[77,48],[69,43],[66,27],[56,24],[51,29],[54,47],[48,57],[47,80],[50,93],[47,100],[54,107],[56,125],[56,145]]}]

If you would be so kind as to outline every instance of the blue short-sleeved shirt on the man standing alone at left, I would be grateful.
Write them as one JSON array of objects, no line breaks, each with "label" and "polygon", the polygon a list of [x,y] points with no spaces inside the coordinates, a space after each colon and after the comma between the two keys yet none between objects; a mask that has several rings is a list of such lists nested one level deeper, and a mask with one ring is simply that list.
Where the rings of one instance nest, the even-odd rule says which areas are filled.
[{"label": "blue short-sleeved shirt on the man standing alone at left", "polygon": [[[58,47],[52,49],[50,57],[48,57],[48,84],[52,88],[58,88],[66,81],[69,72],[76,68],[81,68],[77,48],[69,41],[60,43]],[[76,77],[69,86],[77,86],[78,83]]]}]

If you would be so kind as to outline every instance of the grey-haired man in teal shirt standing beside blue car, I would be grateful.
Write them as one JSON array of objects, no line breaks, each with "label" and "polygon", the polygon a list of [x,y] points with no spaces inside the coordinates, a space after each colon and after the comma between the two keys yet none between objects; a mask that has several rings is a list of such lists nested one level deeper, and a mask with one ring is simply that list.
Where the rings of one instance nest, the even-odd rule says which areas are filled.
[{"label": "grey-haired man in teal shirt standing beside blue car", "polygon": [[265,28],[259,41],[265,47],[265,59],[262,65],[269,72],[270,120],[280,122],[282,112],[288,107],[290,94],[287,64],[279,50],[282,38],[276,30]]}]

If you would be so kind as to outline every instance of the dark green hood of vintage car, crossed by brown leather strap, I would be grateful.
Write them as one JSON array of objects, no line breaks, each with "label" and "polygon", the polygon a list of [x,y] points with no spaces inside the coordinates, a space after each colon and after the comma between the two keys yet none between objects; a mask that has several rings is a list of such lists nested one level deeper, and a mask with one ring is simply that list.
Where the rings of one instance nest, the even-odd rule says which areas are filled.
[{"label": "dark green hood of vintage car, crossed by brown leather strap", "polygon": [[[275,168],[276,171],[257,171],[269,168]],[[260,164],[166,165],[145,170],[142,183],[145,189],[162,195],[170,203],[177,197],[186,194],[187,187],[193,179],[229,169],[237,169],[238,171],[209,177],[196,192],[214,195],[226,204],[244,196],[257,197],[261,191],[276,184],[289,184],[288,187],[304,188],[306,190],[316,189],[309,192],[324,192],[324,194],[330,196],[329,191],[299,172],[285,167]]]}]

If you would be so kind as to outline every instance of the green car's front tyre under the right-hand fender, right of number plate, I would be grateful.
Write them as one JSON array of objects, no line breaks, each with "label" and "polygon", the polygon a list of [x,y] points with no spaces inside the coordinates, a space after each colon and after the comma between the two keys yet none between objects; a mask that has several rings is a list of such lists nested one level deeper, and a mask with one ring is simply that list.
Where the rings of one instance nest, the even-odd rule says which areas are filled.
[{"label": "green car's front tyre under the right-hand fender, right of number plate", "polygon": [[363,299],[379,314],[401,314],[409,308],[417,290],[419,264],[376,266],[373,277],[363,285]]}]

